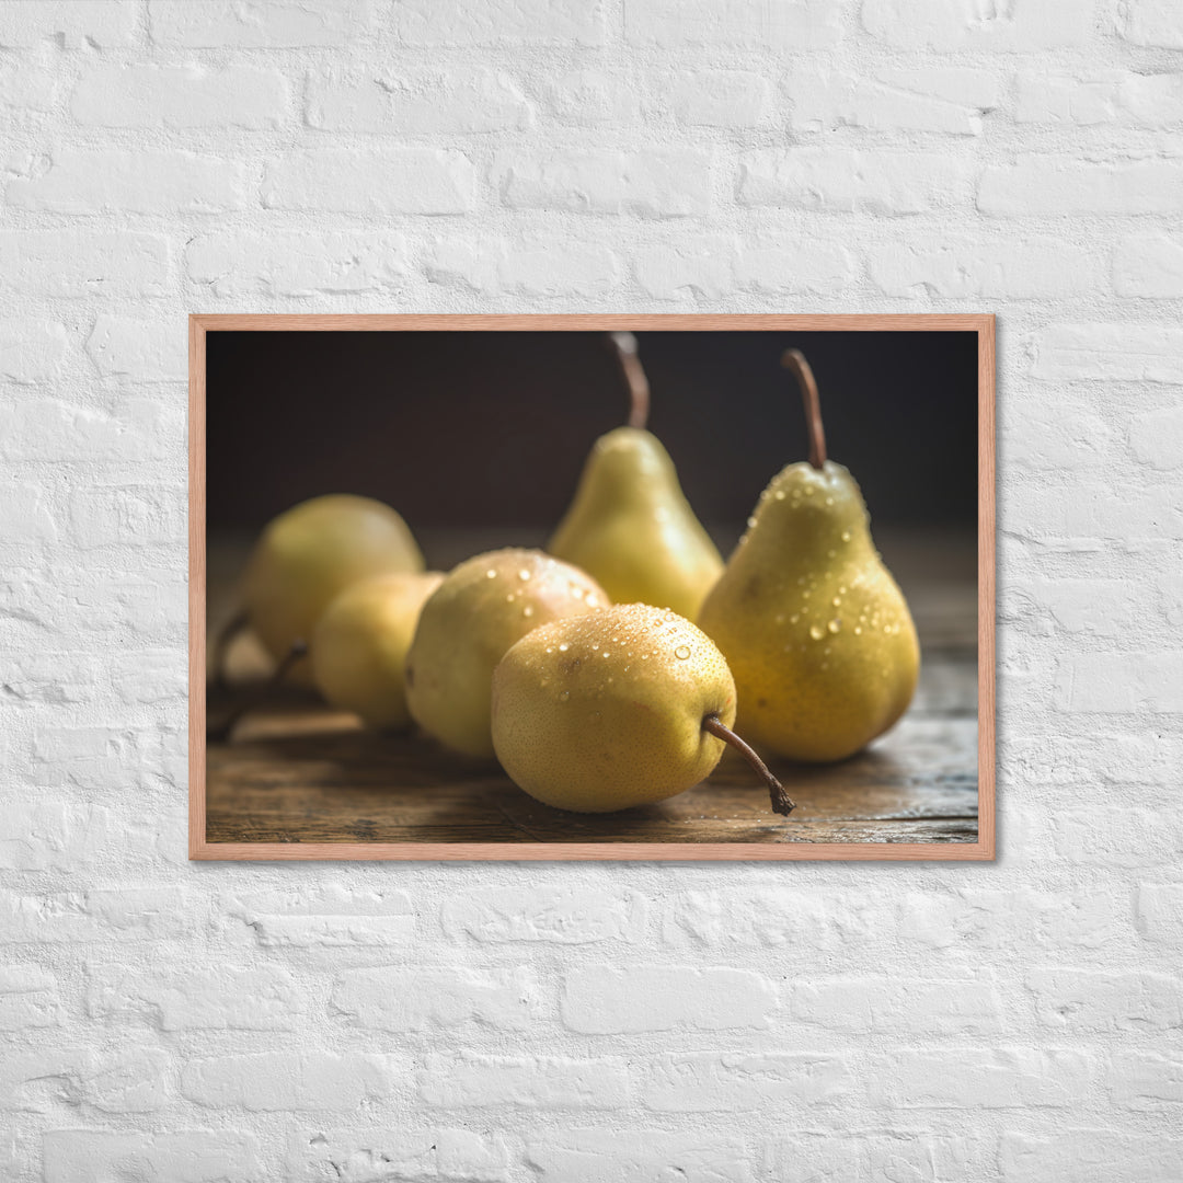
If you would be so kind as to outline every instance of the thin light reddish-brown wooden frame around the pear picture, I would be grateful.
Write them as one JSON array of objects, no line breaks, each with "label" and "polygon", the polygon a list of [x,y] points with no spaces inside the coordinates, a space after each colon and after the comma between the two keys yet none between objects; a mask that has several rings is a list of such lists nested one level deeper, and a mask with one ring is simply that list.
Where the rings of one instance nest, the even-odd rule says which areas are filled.
[{"label": "thin light reddish-brown wooden frame around the pear picture", "polygon": [[[868,315],[193,315],[189,317],[189,858],[287,860],[988,861],[995,856],[995,332],[989,313]],[[207,842],[206,334],[218,331],[923,331],[976,332],[978,382],[978,836],[976,842]]]}]

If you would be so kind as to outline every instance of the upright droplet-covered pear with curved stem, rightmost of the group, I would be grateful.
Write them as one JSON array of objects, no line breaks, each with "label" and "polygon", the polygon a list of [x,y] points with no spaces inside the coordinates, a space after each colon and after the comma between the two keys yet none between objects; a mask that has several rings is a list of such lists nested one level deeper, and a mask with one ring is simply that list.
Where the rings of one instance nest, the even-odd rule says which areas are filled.
[{"label": "upright droplet-covered pear with curved stem, rightmost of the group", "polygon": [[735,674],[744,735],[789,759],[834,761],[904,713],[920,647],[862,493],[826,458],[809,364],[797,350],[784,364],[804,394],[809,461],[790,464],[761,493],[698,623]]}]

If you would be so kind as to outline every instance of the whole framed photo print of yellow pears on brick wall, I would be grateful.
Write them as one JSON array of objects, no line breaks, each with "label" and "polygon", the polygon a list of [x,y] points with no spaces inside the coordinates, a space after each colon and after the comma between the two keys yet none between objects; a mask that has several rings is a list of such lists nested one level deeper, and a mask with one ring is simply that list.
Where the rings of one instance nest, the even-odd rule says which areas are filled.
[{"label": "whole framed photo print of yellow pears on brick wall", "polygon": [[189,358],[190,858],[994,858],[993,316]]}]

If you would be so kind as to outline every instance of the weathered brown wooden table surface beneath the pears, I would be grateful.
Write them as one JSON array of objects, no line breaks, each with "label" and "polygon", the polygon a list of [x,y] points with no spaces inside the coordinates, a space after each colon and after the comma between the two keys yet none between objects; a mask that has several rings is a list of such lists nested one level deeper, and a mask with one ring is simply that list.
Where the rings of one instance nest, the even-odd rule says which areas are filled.
[{"label": "weathered brown wooden table surface beneath the pears", "polygon": [[[506,542],[425,539],[435,564]],[[570,814],[522,793],[496,767],[467,763],[418,735],[375,735],[349,715],[286,691],[207,745],[209,842],[975,842],[977,607],[974,539],[877,541],[920,634],[909,712],[867,751],[827,767],[774,764],[797,808],[778,817],[751,771],[729,756],[677,797],[616,814]],[[209,545],[212,626],[232,610],[235,542]],[[220,718],[259,672],[250,639],[232,653],[234,686],[211,696]]]}]

